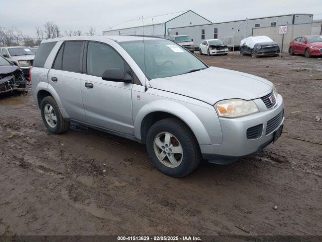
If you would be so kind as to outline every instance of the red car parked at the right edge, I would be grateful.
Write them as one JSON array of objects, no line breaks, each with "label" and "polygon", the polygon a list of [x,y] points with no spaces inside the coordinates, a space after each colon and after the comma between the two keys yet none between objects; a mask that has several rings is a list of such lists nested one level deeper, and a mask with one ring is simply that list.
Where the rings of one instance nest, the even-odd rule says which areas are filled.
[{"label": "red car parked at the right edge", "polygon": [[302,36],[290,42],[288,48],[290,55],[304,54],[305,57],[322,56],[322,36]]}]

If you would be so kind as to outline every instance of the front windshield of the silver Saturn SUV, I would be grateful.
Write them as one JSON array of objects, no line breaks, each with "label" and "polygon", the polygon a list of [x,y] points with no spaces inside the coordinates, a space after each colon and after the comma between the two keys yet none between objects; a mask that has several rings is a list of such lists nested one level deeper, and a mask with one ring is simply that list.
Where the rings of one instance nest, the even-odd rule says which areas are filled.
[{"label": "front windshield of the silver Saturn SUV", "polygon": [[170,40],[144,40],[144,49],[143,40],[119,42],[119,44],[149,80],[207,68],[197,57]]}]

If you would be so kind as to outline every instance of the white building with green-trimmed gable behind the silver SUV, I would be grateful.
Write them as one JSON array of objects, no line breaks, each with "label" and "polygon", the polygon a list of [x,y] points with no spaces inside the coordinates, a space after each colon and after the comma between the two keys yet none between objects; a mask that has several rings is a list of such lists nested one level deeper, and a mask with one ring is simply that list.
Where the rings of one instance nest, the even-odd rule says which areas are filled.
[{"label": "white building with green-trimmed gable behind the silver SUV", "polygon": [[[103,31],[103,35],[152,35],[166,37],[174,27],[211,24],[209,20],[189,10],[126,21]],[[143,27],[144,26],[144,27]]]}]

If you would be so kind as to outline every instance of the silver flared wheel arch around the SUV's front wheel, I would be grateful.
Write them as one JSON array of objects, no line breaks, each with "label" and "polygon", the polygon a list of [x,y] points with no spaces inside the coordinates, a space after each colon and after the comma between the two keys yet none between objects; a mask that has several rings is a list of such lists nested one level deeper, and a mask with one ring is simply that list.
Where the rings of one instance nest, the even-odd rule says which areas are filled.
[{"label": "silver flared wheel arch around the SUV's front wheel", "polygon": [[183,120],[194,133],[199,145],[211,144],[208,132],[198,116],[187,106],[171,100],[151,101],[139,109],[134,120],[134,135],[137,139],[141,140],[143,118],[149,113],[157,111],[170,113]]}]

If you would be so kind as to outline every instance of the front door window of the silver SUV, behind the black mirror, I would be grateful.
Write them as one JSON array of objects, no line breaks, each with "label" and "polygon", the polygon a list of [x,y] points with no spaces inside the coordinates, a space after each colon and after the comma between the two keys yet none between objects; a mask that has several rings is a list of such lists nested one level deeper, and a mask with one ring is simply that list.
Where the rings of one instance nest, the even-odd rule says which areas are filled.
[{"label": "front door window of the silver SUV, behind the black mirror", "polygon": [[87,49],[87,73],[102,77],[108,68],[121,68],[127,72],[127,65],[121,56],[110,46],[102,43],[89,42]]}]

